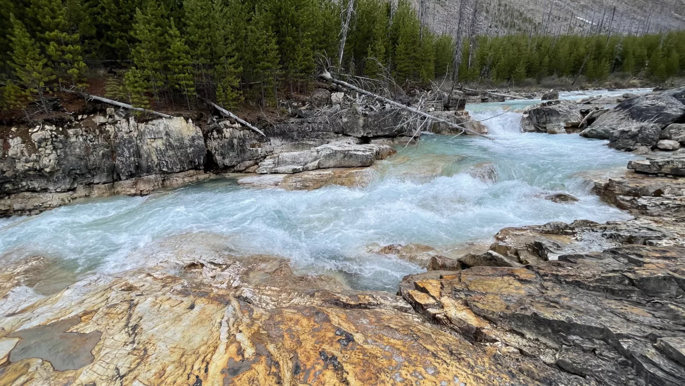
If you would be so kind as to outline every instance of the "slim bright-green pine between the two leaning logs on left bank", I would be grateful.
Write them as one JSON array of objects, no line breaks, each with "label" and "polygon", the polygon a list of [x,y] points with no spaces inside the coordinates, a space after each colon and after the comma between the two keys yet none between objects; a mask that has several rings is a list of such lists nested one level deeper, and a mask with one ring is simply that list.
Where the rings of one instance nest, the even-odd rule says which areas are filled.
[{"label": "slim bright-green pine between the two leaning logs on left bank", "polygon": [[186,104],[190,110],[190,97],[195,97],[195,82],[192,77],[190,54],[186,40],[176,28],[171,19],[169,29],[169,52],[166,53],[169,64],[169,86],[181,91],[186,97]]}]

